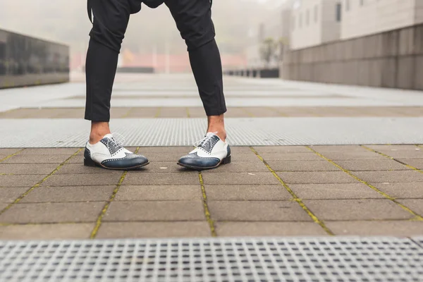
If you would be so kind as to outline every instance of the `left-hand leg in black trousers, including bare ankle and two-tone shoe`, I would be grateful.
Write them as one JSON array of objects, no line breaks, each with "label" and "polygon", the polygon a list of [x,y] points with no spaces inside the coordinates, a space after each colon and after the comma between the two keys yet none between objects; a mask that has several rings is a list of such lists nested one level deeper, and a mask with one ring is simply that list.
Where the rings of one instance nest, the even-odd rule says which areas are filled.
[{"label": "left-hand leg in black trousers, including bare ankle and two-tone shoe", "polygon": [[[92,122],[90,141],[84,154],[86,166],[130,169],[145,166],[148,160],[121,147],[110,134],[110,100],[118,54],[130,13],[141,5],[140,0],[88,0],[94,15],[90,46],[85,66],[87,101],[85,119]],[[138,10],[139,11],[139,10]]]}]

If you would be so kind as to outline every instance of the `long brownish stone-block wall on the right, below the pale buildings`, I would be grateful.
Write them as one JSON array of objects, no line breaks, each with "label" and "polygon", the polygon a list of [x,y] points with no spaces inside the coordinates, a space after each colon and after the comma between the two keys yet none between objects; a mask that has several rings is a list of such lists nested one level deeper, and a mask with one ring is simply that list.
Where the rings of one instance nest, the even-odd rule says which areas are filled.
[{"label": "long brownish stone-block wall on the right, below the pale buildings", "polygon": [[423,90],[423,25],[289,51],[281,77]]}]

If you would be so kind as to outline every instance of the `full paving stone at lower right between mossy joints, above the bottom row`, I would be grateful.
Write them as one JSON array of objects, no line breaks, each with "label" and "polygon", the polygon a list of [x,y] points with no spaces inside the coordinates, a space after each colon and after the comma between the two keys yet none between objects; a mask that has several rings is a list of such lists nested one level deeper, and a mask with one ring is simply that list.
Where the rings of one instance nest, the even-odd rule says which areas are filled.
[{"label": "full paving stone at lower right between mossy joints, above the bottom row", "polygon": [[304,204],[321,220],[387,220],[412,219],[390,200],[304,200]]}]

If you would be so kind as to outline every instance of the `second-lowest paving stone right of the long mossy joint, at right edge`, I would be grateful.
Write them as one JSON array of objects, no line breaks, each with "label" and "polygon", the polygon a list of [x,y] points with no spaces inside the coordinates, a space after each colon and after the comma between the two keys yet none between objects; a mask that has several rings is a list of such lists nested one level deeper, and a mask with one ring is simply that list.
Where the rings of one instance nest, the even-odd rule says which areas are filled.
[{"label": "second-lowest paving stone right of the long mossy joint, at right edge", "polygon": [[422,198],[423,183],[405,182],[405,183],[370,183],[377,189],[385,192],[391,197],[398,199]]}]

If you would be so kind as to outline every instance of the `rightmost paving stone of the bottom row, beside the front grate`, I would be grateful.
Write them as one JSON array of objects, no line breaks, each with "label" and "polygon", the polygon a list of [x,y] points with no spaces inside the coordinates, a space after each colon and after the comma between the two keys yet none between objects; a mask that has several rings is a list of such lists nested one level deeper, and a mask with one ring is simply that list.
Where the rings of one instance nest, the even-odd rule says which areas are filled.
[{"label": "rightmost paving stone of the bottom row, beside the front grate", "polygon": [[423,234],[423,221],[326,221],[336,235],[415,236]]}]

